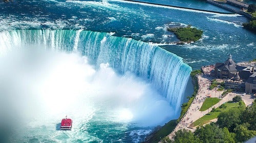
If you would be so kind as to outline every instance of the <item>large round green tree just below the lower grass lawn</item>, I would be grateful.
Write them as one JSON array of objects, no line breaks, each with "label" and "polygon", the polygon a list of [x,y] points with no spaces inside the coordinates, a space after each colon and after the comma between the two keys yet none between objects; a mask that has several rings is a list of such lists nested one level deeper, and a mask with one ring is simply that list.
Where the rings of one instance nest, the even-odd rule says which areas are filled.
[{"label": "large round green tree just below the lower grass lawn", "polygon": [[233,108],[228,111],[221,112],[218,116],[217,124],[221,127],[227,127],[230,132],[236,127],[237,124],[240,124],[241,108]]}]

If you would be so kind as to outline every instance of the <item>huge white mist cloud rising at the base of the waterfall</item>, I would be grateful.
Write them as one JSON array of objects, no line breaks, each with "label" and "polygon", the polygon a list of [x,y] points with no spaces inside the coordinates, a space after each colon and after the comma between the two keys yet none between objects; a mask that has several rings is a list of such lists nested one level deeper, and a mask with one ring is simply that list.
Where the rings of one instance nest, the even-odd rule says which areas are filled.
[{"label": "huge white mist cloud rising at the base of the waterfall", "polygon": [[159,125],[172,115],[168,101],[150,84],[132,73],[120,76],[108,63],[95,70],[86,57],[74,53],[12,51],[0,57],[0,67],[5,69],[0,72],[0,98],[9,103],[1,102],[0,112],[5,108],[10,114],[18,112],[13,115],[33,126],[65,115],[80,121],[98,110],[112,122],[140,126]]}]

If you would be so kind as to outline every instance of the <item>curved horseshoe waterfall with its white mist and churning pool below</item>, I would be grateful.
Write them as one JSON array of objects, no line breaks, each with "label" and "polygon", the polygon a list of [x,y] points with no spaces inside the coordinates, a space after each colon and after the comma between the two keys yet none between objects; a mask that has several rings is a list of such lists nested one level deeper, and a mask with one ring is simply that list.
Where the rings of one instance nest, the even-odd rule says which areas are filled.
[{"label": "curved horseshoe waterfall with its white mist and churning pool below", "polygon": [[143,141],[179,117],[191,71],[154,44],[86,30],[3,31],[0,61],[13,142]]}]

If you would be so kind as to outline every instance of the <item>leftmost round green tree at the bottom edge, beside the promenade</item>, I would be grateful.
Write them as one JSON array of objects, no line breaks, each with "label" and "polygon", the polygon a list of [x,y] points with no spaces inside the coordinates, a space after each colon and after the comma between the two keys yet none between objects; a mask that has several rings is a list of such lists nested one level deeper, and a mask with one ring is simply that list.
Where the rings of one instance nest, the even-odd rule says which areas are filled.
[{"label": "leftmost round green tree at the bottom edge, beside the promenade", "polygon": [[194,135],[191,131],[187,131],[185,129],[179,130],[175,133],[175,138],[174,138],[175,143],[198,143],[202,142],[198,137]]}]

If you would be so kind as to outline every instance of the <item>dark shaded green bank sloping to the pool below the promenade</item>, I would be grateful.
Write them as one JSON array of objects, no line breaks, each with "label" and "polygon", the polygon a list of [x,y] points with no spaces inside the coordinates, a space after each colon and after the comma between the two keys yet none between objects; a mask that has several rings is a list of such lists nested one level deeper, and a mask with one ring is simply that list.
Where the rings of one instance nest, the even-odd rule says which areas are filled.
[{"label": "dark shaded green bank sloping to the pool below the promenade", "polygon": [[153,133],[147,142],[159,142],[161,138],[164,138],[166,135],[170,134],[175,129],[176,125],[176,120],[169,121],[157,132]]}]

